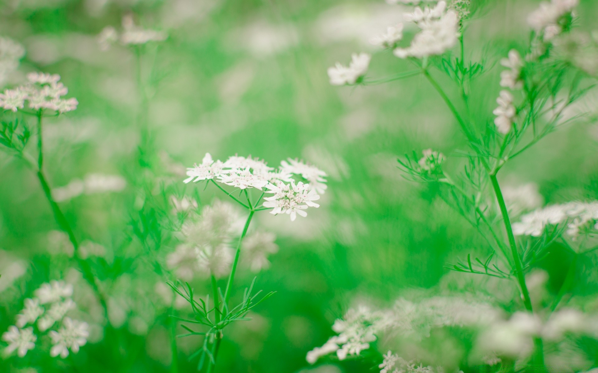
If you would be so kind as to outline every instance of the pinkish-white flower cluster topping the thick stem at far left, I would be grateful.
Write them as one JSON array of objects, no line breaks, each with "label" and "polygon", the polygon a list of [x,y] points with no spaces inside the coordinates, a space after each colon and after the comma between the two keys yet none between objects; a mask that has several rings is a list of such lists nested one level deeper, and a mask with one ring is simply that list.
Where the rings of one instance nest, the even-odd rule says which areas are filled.
[{"label": "pinkish-white flower cluster topping the thick stem at far left", "polygon": [[0,94],[0,107],[16,112],[23,109],[27,101],[29,109],[33,110],[48,109],[65,113],[77,109],[79,102],[76,98],[61,98],[68,93],[68,88],[59,82],[60,75],[29,73],[27,79],[28,84]]}]

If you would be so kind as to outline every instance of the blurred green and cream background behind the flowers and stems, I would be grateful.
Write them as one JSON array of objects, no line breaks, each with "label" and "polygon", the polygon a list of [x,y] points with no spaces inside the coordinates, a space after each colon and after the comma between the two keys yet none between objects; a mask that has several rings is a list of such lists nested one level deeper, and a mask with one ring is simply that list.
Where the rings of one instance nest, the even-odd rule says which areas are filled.
[{"label": "blurred green and cream background behind the flowers and stems", "polygon": [[[7,85],[19,84],[32,70],[59,73],[69,97],[80,102],[75,112],[46,122],[50,183],[64,186],[98,172],[127,180],[122,192],[83,195],[60,204],[81,240],[106,248],[104,258],[90,262],[111,297],[127,304],[124,322],[104,331],[103,339],[101,332],[95,341],[90,338],[65,362],[13,358],[0,362],[2,371],[170,371],[169,305],[160,302],[154,286],[167,278],[152,270],[134,231],[142,215],[157,214],[140,209],[154,193],[149,185],[179,195],[199,194],[202,203],[216,195],[210,188],[204,191],[203,184],[185,187],[184,177],[170,172],[172,165],[200,162],[206,152],[220,159],[251,154],[270,165],[299,157],[329,174],[321,208],[310,209],[307,218],[291,224],[286,217],[262,214],[253,223],[277,235],[280,251],[256,285],[277,293],[256,309],[252,321],[237,323],[225,335],[219,372],[371,371],[361,362],[313,368],[305,354],[321,346],[332,334],[334,319],[360,299],[389,304],[407,289],[475,281],[457,281],[444,266],[468,252],[484,252],[483,238],[444,204],[434,187],[410,183],[396,169],[398,156],[429,147],[450,156],[447,168],[462,168],[465,160],[457,150],[465,148],[464,138],[435,91],[420,77],[364,87],[328,84],[327,67],[347,63],[352,52],[374,53],[368,72],[372,79],[412,69],[368,43],[396,23],[401,7],[370,0],[0,4],[0,35],[26,48]],[[526,41],[525,17],[538,2],[486,0],[479,5],[465,45],[468,58],[484,61],[487,70],[474,87],[480,103],[474,108],[481,118],[477,125],[483,128],[492,123],[499,91],[497,61]],[[582,1],[578,9],[596,14],[597,4]],[[135,54],[119,46],[102,51],[97,43],[103,27],[118,29],[127,14],[169,35],[148,45],[142,57],[152,96],[147,117],[154,153],[141,166]],[[582,17],[587,24],[579,26],[591,27],[594,19]],[[597,99],[591,93],[579,108],[595,110]],[[536,183],[547,203],[597,199],[597,150],[596,125],[565,128],[511,162],[502,181],[512,186]],[[67,255],[51,249],[56,242],[48,232],[58,227],[35,175],[2,153],[0,178],[4,331],[23,298],[40,283],[77,274]],[[154,254],[163,257],[174,245],[163,238]],[[236,283],[247,285],[252,277],[240,273]],[[205,294],[209,283],[196,282],[194,288]],[[135,326],[139,317],[145,327]],[[179,340],[181,372],[196,366],[186,357],[199,339],[187,339]]]}]

